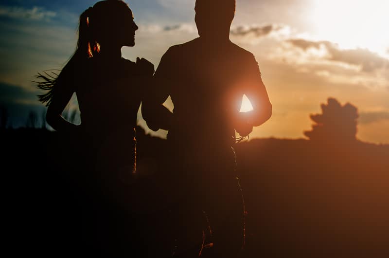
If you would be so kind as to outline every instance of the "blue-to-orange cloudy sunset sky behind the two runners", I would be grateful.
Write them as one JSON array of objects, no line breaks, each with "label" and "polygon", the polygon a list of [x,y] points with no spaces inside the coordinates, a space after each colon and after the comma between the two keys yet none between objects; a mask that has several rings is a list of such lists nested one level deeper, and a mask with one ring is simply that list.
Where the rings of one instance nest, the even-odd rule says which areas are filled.
[{"label": "blue-to-orange cloudy sunset sky behind the two runners", "polygon": [[[157,67],[169,46],[198,37],[195,0],[126,2],[139,26],[136,46],[122,49],[127,59]],[[62,68],[75,50],[78,17],[94,3],[0,1],[0,105],[14,127],[30,110],[43,112],[34,75]],[[309,115],[334,97],[358,108],[359,140],[389,144],[388,10],[387,0],[237,0],[230,39],[255,55],[273,104],[250,138],[302,138]]]}]

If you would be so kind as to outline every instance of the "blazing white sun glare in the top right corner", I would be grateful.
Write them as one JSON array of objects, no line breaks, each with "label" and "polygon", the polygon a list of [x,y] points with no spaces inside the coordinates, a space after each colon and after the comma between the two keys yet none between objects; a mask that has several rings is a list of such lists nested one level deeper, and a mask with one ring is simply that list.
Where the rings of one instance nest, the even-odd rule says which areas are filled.
[{"label": "blazing white sun glare in the top right corner", "polygon": [[387,55],[388,10],[388,0],[314,0],[310,20],[319,39]]}]

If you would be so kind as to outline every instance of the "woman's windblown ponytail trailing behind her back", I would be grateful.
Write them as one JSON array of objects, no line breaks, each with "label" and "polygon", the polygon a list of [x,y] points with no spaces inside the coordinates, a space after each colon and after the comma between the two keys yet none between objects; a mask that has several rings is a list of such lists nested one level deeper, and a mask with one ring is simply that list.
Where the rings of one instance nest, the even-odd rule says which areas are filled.
[{"label": "woman's windblown ponytail trailing behind her back", "polygon": [[[77,48],[62,71],[49,70],[49,73],[45,71],[35,75],[36,78],[42,80],[40,82],[35,81],[37,83],[36,87],[40,90],[47,91],[44,94],[37,95],[40,102],[46,103],[46,107],[53,100],[56,92],[55,89],[73,76],[71,72],[74,70],[75,64],[83,62],[99,52],[99,44],[96,42],[89,28],[89,18],[92,16],[92,10],[93,8],[89,7],[80,16]],[[58,74],[54,71],[60,71],[60,73]]]}]

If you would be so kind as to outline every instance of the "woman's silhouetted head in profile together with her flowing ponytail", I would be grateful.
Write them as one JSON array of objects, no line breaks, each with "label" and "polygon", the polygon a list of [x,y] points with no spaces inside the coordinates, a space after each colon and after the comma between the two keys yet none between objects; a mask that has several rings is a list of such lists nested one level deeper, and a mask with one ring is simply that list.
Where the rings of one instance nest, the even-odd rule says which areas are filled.
[{"label": "woman's silhouetted head in profile together with her flowing ponytail", "polygon": [[135,31],[138,26],[134,22],[131,9],[122,0],[99,1],[89,7],[80,16],[78,43],[75,54],[65,65],[60,74],[38,74],[43,79],[37,82],[37,87],[47,91],[38,95],[42,103],[50,105],[56,85],[65,84],[72,78],[71,71],[74,65],[83,66],[83,60],[96,55],[100,47],[121,48],[135,45]]}]

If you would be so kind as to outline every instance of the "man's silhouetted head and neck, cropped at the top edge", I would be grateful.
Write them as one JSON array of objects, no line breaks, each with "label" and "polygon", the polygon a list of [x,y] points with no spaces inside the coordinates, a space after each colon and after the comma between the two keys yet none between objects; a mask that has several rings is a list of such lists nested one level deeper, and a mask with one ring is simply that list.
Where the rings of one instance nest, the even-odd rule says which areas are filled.
[{"label": "man's silhouetted head and neck, cropped at the top edge", "polygon": [[235,0],[196,0],[195,22],[200,37],[228,37],[235,15]]}]

